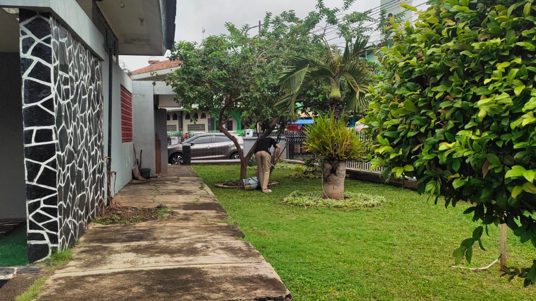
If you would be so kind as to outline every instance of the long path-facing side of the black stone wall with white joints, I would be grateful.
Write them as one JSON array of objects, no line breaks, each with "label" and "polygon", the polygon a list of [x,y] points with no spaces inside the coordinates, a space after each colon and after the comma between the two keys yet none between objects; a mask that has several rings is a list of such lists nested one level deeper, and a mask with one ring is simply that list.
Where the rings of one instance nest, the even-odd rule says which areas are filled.
[{"label": "long path-facing side of the black stone wall with white joints", "polygon": [[98,58],[57,20],[53,29],[59,247],[74,244],[105,198],[102,74]]}]

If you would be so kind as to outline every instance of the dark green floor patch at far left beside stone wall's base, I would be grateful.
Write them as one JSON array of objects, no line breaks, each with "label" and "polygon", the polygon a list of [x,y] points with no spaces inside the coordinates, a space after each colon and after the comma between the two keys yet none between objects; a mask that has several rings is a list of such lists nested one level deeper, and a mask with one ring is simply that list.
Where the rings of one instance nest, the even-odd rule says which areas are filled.
[{"label": "dark green floor patch at far left beside stone wall's base", "polygon": [[26,225],[23,225],[0,240],[0,267],[27,264]]}]

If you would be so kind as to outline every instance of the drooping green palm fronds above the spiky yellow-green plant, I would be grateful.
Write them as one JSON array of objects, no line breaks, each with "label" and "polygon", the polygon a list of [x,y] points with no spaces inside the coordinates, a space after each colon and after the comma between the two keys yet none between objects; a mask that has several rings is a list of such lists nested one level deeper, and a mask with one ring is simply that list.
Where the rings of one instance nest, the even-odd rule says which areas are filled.
[{"label": "drooping green palm fronds above the spiky yellow-green plant", "polygon": [[[368,108],[365,97],[373,76],[359,58],[367,46],[367,39],[357,38],[352,48],[346,41],[343,55],[333,51],[327,45],[328,53],[324,59],[310,56],[295,56],[288,58],[289,65],[280,72],[279,86],[285,95],[276,104],[279,109],[295,114],[297,96],[302,87],[315,80],[327,81],[331,84],[329,105],[334,118],[340,119],[343,110],[347,112],[363,112]],[[349,91],[345,100],[341,95],[341,80],[346,80]]]}]

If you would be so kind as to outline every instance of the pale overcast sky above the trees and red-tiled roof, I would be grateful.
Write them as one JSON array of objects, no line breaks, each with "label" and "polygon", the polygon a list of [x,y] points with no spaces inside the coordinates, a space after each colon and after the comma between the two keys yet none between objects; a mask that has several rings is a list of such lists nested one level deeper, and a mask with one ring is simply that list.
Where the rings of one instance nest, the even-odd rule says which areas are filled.
[{"label": "pale overcast sky above the trees and red-tiled roof", "polygon": [[[324,3],[328,7],[341,7],[343,0],[324,0]],[[366,11],[379,4],[380,0],[356,0],[349,11]],[[200,42],[203,39],[202,28],[206,29],[205,36],[225,33],[225,22],[233,22],[238,27],[244,24],[257,25],[267,11],[276,15],[282,11],[294,10],[298,17],[303,18],[308,12],[315,10],[315,5],[315,0],[178,0],[175,41]],[[120,57],[130,70],[147,66],[148,58]],[[160,58],[163,59],[165,57]]]}]

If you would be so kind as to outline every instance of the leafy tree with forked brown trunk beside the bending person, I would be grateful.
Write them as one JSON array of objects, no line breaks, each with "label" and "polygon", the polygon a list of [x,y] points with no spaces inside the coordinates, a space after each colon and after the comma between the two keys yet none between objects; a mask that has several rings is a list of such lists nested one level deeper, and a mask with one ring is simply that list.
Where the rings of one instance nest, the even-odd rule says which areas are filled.
[{"label": "leafy tree with forked brown trunk beside the bending person", "polygon": [[[270,135],[282,122],[286,112],[275,108],[281,98],[278,87],[278,70],[287,65],[287,56],[310,56],[325,52],[325,30],[317,34],[319,22],[335,24],[341,35],[352,37],[363,30],[364,13],[352,13],[341,18],[341,12],[348,10],[355,0],[345,0],[341,9],[329,9],[322,0],[317,0],[317,10],[305,18],[296,17],[294,11],[282,12],[277,16],[266,13],[262,26],[250,30],[247,25],[237,28],[227,23],[228,32],[206,37],[202,43],[187,41],[174,45],[170,59],[181,60],[181,68],[169,75],[166,82],[176,92],[175,100],[185,110],[198,106],[201,110],[217,111],[217,128],[226,134],[238,149],[241,158],[240,177],[246,177],[247,165],[254,153],[244,153],[236,138],[225,129],[232,112],[241,111],[242,116],[253,124],[261,124],[264,132],[260,137]],[[254,35],[251,35],[254,33]],[[302,107],[310,109],[325,102],[325,87],[317,82],[302,86],[296,95]],[[218,110],[219,109],[219,110]],[[295,109],[295,108],[294,108]]]}]

